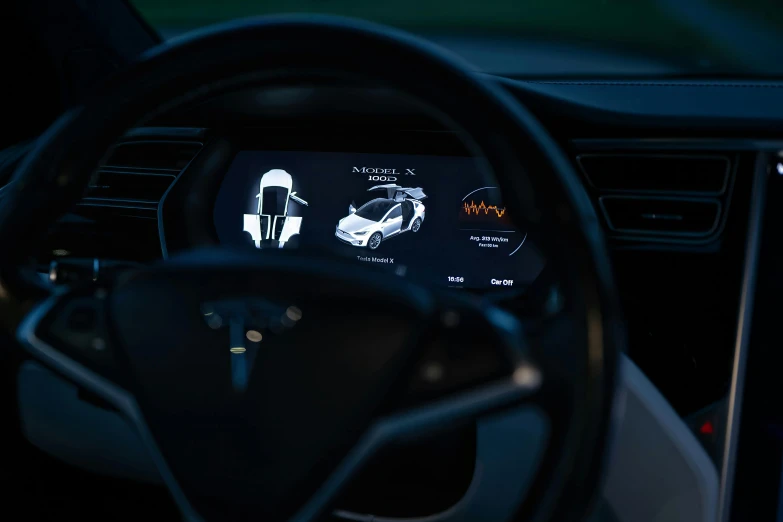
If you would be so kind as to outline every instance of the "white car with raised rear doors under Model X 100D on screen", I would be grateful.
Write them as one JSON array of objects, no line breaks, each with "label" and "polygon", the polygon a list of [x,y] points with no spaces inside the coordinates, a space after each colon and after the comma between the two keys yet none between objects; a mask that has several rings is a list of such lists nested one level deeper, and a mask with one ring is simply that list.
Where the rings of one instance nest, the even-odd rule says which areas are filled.
[{"label": "white car with raised rear doors under Model X 100D on screen", "polygon": [[350,214],[337,223],[337,239],[375,250],[390,237],[419,231],[425,210],[421,200],[427,197],[421,188],[377,185],[368,190],[386,190],[387,197],[368,201],[358,209],[350,205]]}]

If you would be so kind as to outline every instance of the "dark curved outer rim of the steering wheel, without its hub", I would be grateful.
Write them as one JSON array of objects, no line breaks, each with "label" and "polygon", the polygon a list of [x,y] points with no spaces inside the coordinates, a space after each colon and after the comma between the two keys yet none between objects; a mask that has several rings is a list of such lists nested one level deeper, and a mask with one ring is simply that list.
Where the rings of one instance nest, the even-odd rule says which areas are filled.
[{"label": "dark curved outer rim of the steering wheel, without its hub", "polygon": [[[275,74],[259,77],[260,60]],[[557,230],[551,242],[545,239],[544,251],[567,252],[570,260],[580,260],[578,266],[565,258],[554,262],[566,265],[564,272],[571,276],[566,286],[579,288],[575,306],[584,310],[580,323],[586,354],[578,364],[582,368],[583,363],[585,374],[574,387],[585,395],[585,410],[578,415],[579,426],[571,421],[564,436],[573,439],[572,450],[559,459],[547,487],[533,487],[542,494],[541,501],[536,506],[524,503],[515,515],[558,520],[580,516],[599,483],[595,478],[610,431],[614,371],[623,339],[597,218],[568,160],[508,93],[442,50],[389,28],[331,17],[227,24],[156,49],[85,106],[64,114],[19,166],[0,207],[0,244],[17,246],[0,252],[0,299],[12,318],[6,327],[14,329],[29,303],[48,294],[20,271],[35,238],[78,201],[105,151],[138,123],[139,114],[146,118],[220,89],[279,80],[277,73],[287,68],[361,73],[448,114],[474,137],[501,190],[509,195],[512,215]],[[415,73],[415,79],[403,73]],[[445,88],[450,95],[443,96]],[[459,108],[459,100],[466,99],[475,107]],[[44,311],[36,309],[22,329],[22,340],[39,359],[40,351],[29,346],[29,334]],[[570,507],[557,502],[562,495],[569,496]]]}]

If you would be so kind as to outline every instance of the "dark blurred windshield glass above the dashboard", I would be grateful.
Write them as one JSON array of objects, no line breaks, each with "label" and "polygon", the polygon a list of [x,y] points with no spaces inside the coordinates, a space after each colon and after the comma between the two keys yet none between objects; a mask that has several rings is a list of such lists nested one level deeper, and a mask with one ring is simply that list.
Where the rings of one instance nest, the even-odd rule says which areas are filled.
[{"label": "dark blurred windshield glass above the dashboard", "polygon": [[246,16],[393,25],[477,69],[534,76],[783,76],[779,0],[132,0],[164,38]]}]

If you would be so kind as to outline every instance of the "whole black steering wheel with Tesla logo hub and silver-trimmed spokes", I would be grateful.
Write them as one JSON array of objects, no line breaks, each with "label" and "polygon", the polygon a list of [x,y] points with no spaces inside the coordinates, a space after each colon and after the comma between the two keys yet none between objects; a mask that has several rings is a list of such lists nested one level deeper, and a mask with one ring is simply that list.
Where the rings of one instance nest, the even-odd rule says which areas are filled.
[{"label": "whole black steering wheel with Tesla logo hub and silver-trimmed spokes", "polygon": [[[66,290],[30,273],[36,240],[129,127],[223,92],[325,78],[392,88],[458,130],[557,274],[560,306],[535,332],[475,297],[295,253],[199,250]],[[0,208],[0,245],[3,327],[126,417],[186,520],[319,518],[388,445],[520,410],[547,435],[533,479],[510,470],[491,505],[437,519],[579,520],[593,504],[623,343],[598,221],[535,118],[425,41],[283,17],[162,45],[41,136]],[[239,390],[228,348],[251,323],[263,340]]]}]

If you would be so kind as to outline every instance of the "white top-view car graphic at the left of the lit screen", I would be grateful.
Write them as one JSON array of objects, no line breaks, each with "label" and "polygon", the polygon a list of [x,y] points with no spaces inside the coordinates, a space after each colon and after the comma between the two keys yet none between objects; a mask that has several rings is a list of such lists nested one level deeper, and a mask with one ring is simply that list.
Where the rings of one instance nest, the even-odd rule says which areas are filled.
[{"label": "white top-view car graphic at the left of the lit screen", "polygon": [[256,248],[270,244],[273,248],[283,248],[293,236],[299,235],[302,218],[288,215],[289,201],[307,206],[307,201],[291,192],[293,179],[291,174],[281,169],[273,169],[261,176],[258,190],[258,210],[255,214],[245,214],[245,228],[253,238]]}]

